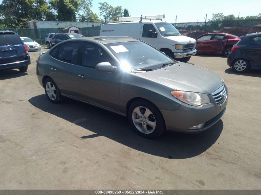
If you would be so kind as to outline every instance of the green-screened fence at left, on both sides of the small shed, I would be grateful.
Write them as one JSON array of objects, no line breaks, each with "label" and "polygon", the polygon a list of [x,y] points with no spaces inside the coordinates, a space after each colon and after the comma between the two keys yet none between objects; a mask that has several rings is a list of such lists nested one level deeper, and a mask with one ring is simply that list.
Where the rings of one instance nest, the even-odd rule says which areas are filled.
[{"label": "green-screened fence at left, on both sides of the small shed", "polygon": [[[5,28],[0,30],[9,30],[16,32],[20,37],[29,37],[35,40],[37,43],[43,45],[44,38],[48,33],[61,33],[62,28]],[[79,28],[79,33],[85,37],[99,36],[101,26]]]}]

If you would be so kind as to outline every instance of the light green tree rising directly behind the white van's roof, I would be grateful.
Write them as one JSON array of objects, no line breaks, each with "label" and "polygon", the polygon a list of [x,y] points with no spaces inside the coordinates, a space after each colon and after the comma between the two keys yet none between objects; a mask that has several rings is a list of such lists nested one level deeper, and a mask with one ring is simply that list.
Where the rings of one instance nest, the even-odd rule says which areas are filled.
[{"label": "light green tree rising directly behind the white van's roof", "polygon": [[99,3],[100,16],[103,16],[104,21],[119,20],[119,17],[123,16],[123,10],[121,6],[113,7],[107,2]]}]

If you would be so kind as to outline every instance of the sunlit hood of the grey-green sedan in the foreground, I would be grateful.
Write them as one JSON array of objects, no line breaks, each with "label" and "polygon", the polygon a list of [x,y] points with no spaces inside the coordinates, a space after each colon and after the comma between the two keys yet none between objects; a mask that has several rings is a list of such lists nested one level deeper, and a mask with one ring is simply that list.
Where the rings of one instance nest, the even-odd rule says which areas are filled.
[{"label": "sunlit hood of the grey-green sedan in the foreground", "polygon": [[179,62],[154,71],[136,73],[179,91],[212,94],[224,82],[217,74],[189,63]]}]

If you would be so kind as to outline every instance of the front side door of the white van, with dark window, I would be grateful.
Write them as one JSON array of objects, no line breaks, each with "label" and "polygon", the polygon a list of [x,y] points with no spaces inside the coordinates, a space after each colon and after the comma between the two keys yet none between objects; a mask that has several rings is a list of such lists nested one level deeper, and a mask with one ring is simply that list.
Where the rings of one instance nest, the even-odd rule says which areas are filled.
[{"label": "front side door of the white van, with dark window", "polygon": [[153,47],[158,47],[158,32],[152,24],[142,24],[140,40]]}]

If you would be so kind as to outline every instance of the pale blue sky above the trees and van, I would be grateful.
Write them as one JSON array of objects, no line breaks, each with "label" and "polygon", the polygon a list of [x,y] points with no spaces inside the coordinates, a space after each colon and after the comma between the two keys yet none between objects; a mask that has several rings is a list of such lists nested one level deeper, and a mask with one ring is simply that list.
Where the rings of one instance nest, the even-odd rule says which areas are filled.
[{"label": "pale blue sky above the trees and van", "polygon": [[[222,12],[224,15],[234,14],[239,17],[247,15],[258,15],[261,13],[260,0],[94,0],[92,11],[99,15],[99,2],[107,2],[113,7],[122,6],[127,8],[131,16],[165,14],[166,22],[197,22],[204,21],[207,14],[207,20],[212,14]],[[101,17],[101,16],[100,16]]]}]

